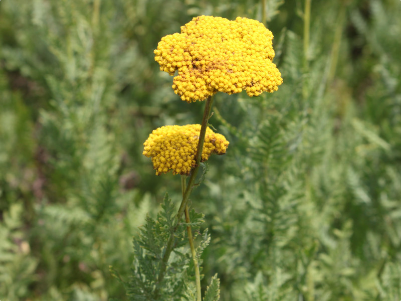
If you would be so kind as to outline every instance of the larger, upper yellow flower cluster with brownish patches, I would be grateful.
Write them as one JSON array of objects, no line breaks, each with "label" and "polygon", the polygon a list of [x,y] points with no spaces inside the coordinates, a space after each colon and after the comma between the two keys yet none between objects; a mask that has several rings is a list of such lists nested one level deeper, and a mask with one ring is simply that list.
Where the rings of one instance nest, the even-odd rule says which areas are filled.
[{"label": "larger, upper yellow flower cluster with brownish patches", "polygon": [[252,19],[200,16],[165,36],[154,51],[160,70],[174,75],[172,88],[187,102],[218,91],[246,90],[250,96],[273,92],[283,83],[272,62],[273,34]]}]

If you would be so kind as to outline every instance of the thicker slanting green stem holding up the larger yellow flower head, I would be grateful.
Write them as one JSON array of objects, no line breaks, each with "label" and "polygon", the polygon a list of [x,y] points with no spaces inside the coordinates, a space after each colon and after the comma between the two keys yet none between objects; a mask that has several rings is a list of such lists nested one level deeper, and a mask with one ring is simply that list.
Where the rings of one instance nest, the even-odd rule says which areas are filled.
[{"label": "thicker slanting green stem holding up the larger yellow flower head", "polygon": [[[204,117],[202,119],[202,126],[200,127],[199,131],[199,141],[197,143],[197,148],[196,148],[196,155],[195,155],[195,167],[192,169],[191,174],[189,176],[188,183],[186,185],[185,191],[183,190],[183,195],[182,195],[182,201],[181,205],[179,206],[178,213],[175,216],[175,226],[173,229],[173,232],[170,234],[170,237],[167,241],[167,245],[164,251],[163,258],[161,260],[161,266],[160,266],[160,271],[159,275],[157,277],[157,282],[160,283],[164,279],[165,271],[167,268],[167,262],[168,258],[170,257],[171,251],[173,250],[173,245],[174,245],[174,234],[175,231],[178,228],[179,222],[181,220],[182,214],[185,211],[185,207],[188,205],[188,200],[189,200],[189,195],[195,186],[195,179],[197,172],[200,167],[200,160],[202,159],[202,150],[204,147],[204,142],[205,142],[205,135],[206,135],[206,128],[208,127],[208,121],[210,118],[210,113],[212,110],[212,105],[213,105],[213,97],[208,97],[206,100],[205,104],[205,110],[204,110]],[[182,180],[181,180],[182,181]],[[155,296],[158,296],[158,290],[156,289],[155,291]]]}]

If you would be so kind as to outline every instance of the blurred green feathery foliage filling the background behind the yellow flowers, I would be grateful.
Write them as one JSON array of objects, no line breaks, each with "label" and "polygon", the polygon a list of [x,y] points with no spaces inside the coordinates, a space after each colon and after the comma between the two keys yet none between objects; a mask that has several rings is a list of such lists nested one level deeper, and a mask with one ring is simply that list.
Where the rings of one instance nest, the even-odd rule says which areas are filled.
[{"label": "blurred green feathery foliage filling the background behind the yellow flowers", "polygon": [[[218,94],[230,140],[192,208],[222,300],[401,298],[401,3],[266,0],[273,94]],[[246,0],[0,2],[0,299],[127,299],[132,236],[178,177],[152,129],[200,120],[158,70],[161,37],[198,15],[262,20]],[[306,18],[307,19],[307,18]],[[185,277],[183,275],[182,277]],[[189,275],[186,275],[189,277]]]}]

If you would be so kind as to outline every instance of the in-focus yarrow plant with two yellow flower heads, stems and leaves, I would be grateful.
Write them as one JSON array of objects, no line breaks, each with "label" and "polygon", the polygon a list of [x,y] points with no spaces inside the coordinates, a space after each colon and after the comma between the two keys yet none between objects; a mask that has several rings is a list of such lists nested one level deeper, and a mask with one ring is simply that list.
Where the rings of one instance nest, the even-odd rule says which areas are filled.
[{"label": "in-focus yarrow plant with two yellow flower heads, stems and leaves", "polygon": [[[249,96],[276,91],[283,80],[272,62],[272,39],[272,33],[255,20],[200,16],[181,27],[180,34],[162,38],[154,51],[160,70],[170,75],[178,71],[173,79],[174,92],[188,103],[206,103],[202,124],[162,126],[144,142],[143,155],[152,159],[156,175],[169,171],[181,175],[182,201],[174,214],[166,195],[156,221],[147,218],[134,240],[135,268],[130,282],[125,283],[132,300],[202,301],[199,258],[210,236],[205,231],[195,247],[192,229],[198,233],[203,215],[189,212],[188,200],[198,185],[195,179],[201,163],[211,154],[225,154],[229,145],[223,135],[208,127],[213,96],[242,90]],[[184,248],[185,230],[191,260]],[[195,288],[189,281],[192,268]],[[215,275],[203,300],[218,300],[219,294]]]}]

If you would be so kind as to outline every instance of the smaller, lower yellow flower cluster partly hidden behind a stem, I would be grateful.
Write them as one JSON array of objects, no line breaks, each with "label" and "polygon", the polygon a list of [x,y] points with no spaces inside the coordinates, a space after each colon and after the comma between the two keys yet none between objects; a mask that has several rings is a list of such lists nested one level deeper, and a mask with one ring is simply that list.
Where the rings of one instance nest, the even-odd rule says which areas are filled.
[{"label": "smaller, lower yellow flower cluster partly hidden behind a stem", "polygon": [[[199,131],[200,124],[165,125],[152,131],[143,143],[143,155],[152,158],[156,175],[170,170],[174,175],[189,175],[195,166]],[[225,154],[228,145],[229,141],[222,134],[214,133],[207,127],[202,162],[212,154]]]}]

